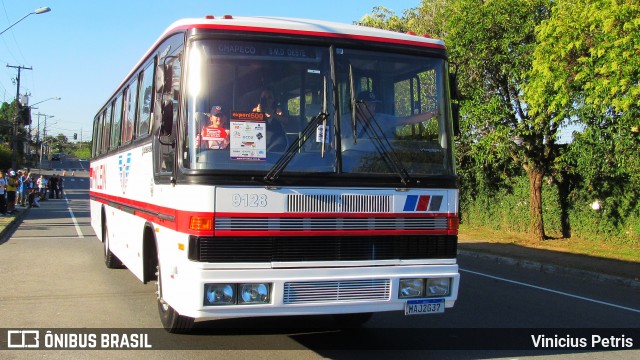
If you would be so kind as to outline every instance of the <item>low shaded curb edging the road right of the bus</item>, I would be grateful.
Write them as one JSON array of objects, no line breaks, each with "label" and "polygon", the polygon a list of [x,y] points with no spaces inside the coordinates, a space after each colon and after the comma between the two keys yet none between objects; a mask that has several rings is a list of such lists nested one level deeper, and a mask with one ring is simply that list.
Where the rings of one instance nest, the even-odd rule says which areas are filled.
[{"label": "low shaded curb edging the road right of the bus", "polygon": [[618,285],[640,289],[640,279],[630,279],[622,276],[602,274],[594,271],[572,268],[569,266],[561,266],[556,264],[541,263],[528,259],[518,259],[502,255],[495,255],[480,251],[469,251],[458,249],[458,255],[468,256],[476,259],[495,261],[499,264],[518,266],[524,269],[535,270],[547,274],[566,274],[577,276],[587,280],[596,280],[603,282],[612,282]]}]

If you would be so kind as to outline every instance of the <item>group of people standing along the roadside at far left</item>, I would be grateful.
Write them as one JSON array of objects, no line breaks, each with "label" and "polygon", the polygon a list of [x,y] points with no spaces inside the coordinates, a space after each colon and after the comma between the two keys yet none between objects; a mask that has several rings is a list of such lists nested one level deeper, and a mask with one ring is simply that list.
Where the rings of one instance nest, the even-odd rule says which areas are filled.
[{"label": "group of people standing along the roadside at far left", "polygon": [[40,207],[40,201],[64,196],[64,174],[34,178],[27,170],[0,171],[0,216],[14,214],[18,205]]}]

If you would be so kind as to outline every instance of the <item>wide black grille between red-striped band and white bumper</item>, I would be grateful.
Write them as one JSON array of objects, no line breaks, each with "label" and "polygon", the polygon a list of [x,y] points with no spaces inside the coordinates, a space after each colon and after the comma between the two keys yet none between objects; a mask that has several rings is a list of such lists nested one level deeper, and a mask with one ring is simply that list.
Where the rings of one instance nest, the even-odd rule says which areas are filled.
[{"label": "wide black grille between red-striped band and white bumper", "polygon": [[452,259],[453,235],[197,237],[189,259],[201,262],[294,262]]}]

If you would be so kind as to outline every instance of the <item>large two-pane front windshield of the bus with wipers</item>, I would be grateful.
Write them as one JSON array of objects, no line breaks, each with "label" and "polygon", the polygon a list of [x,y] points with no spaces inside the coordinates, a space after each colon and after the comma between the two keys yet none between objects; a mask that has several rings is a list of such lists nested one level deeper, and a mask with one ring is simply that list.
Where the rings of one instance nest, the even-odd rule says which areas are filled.
[{"label": "large two-pane front windshield of the bus with wipers", "polygon": [[182,165],[267,174],[280,162],[282,176],[453,175],[446,66],[388,51],[195,40]]}]

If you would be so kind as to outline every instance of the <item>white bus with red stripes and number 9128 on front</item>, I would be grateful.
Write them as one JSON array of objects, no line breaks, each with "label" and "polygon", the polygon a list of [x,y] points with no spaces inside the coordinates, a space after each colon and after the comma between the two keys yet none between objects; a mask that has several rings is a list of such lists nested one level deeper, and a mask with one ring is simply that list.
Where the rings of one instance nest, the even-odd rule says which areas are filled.
[{"label": "white bus with red stripes and number 9128 on front", "polygon": [[454,84],[429,37],[177,21],[94,119],[91,225],[106,266],[157,283],[170,332],[444,312],[459,286]]}]

